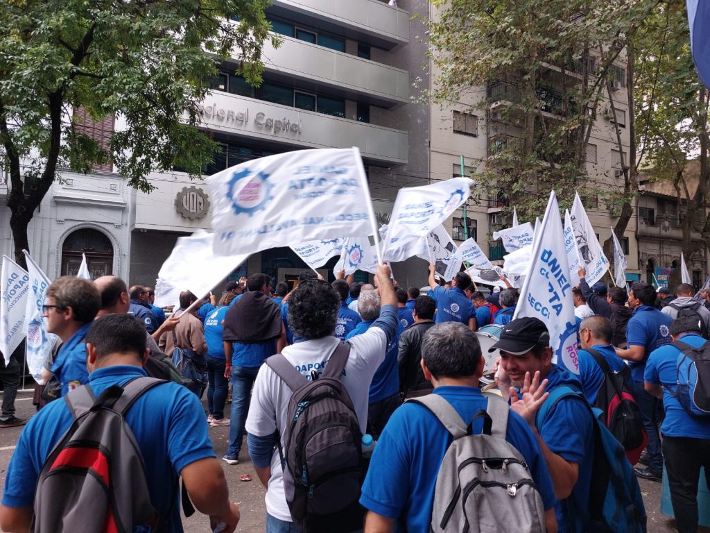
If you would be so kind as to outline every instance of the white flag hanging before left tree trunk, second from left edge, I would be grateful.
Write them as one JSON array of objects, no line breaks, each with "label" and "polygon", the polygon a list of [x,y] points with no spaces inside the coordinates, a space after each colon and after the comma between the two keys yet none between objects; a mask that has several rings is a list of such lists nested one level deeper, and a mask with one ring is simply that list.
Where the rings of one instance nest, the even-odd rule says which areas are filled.
[{"label": "white flag hanging before left tree trunk, second from left edge", "polygon": [[52,346],[57,338],[54,333],[47,333],[42,318],[42,306],[47,297],[50,281],[40,267],[34,262],[27,250],[22,251],[27,261],[27,272],[30,276],[31,291],[27,297],[25,312],[25,334],[27,335],[27,367],[38,384],[44,384],[42,370]]}]

